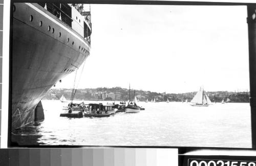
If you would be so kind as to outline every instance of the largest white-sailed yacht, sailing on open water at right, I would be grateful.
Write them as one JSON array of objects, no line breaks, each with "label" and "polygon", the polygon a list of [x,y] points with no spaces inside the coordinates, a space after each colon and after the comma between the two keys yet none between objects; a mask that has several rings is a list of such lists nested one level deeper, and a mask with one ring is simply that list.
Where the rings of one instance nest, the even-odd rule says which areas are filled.
[{"label": "largest white-sailed yacht, sailing on open water at right", "polygon": [[206,92],[204,89],[199,89],[195,97],[191,100],[190,102],[191,106],[209,106],[211,104],[211,101],[209,97],[207,96]]}]

